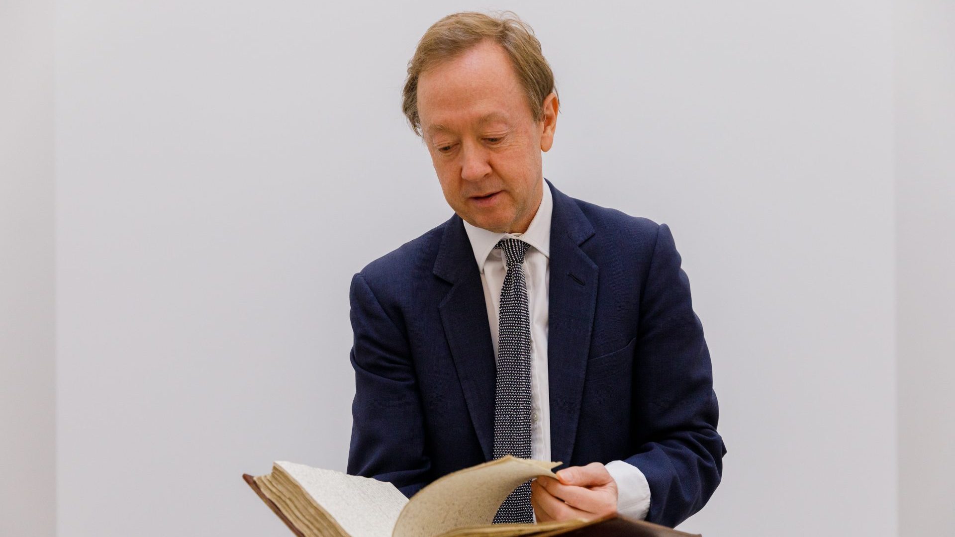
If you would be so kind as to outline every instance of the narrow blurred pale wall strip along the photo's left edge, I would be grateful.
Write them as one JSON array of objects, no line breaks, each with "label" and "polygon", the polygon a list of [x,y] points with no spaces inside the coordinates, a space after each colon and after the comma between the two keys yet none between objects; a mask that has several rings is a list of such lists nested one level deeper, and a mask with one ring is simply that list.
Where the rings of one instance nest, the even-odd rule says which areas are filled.
[{"label": "narrow blurred pale wall strip along the photo's left edge", "polygon": [[0,535],[52,537],[53,2],[0,2]]}]

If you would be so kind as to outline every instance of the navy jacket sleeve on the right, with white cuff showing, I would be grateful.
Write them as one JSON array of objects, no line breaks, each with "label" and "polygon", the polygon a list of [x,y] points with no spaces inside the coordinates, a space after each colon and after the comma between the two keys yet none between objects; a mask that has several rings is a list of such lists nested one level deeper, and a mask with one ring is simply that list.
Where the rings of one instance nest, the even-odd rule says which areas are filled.
[{"label": "navy jacket sleeve on the right, with white cuff showing", "polygon": [[700,510],[719,484],[726,447],[716,432],[710,352],[692,310],[669,227],[657,229],[641,294],[633,361],[636,455],[625,460],[647,477],[647,521],[677,526]]}]

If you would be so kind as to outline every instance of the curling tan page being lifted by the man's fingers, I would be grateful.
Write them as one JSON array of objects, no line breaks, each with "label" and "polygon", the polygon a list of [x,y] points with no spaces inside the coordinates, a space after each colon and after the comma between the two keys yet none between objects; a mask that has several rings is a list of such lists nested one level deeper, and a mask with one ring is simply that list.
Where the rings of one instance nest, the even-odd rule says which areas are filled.
[{"label": "curling tan page being lifted by the man's fingers", "polygon": [[537,476],[556,478],[551,468],[560,464],[508,455],[452,472],[412,497],[398,516],[393,537],[435,537],[465,526],[490,525],[515,487]]}]

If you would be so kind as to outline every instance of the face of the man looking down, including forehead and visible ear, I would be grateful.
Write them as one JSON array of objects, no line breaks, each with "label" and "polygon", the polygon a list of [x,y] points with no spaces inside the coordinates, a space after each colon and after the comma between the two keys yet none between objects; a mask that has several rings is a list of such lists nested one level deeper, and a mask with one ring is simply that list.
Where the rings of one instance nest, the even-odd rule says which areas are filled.
[{"label": "face of the man looking down, including forehead and visible ear", "polygon": [[541,151],[557,125],[557,96],[535,122],[507,53],[482,41],[420,75],[421,134],[437,179],[462,219],[498,232],[527,230],[541,203]]}]

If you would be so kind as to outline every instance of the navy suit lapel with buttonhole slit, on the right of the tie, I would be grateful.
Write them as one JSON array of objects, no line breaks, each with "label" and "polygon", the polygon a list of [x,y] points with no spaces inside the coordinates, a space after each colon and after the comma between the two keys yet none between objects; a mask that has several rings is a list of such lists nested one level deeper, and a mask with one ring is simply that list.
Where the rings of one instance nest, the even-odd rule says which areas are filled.
[{"label": "navy suit lapel with buttonhole slit, on the right of the tie", "polygon": [[584,374],[597,306],[597,265],[581,245],[594,234],[580,207],[549,181],[550,296],[547,376],[551,460],[570,465],[581,415]]}]

